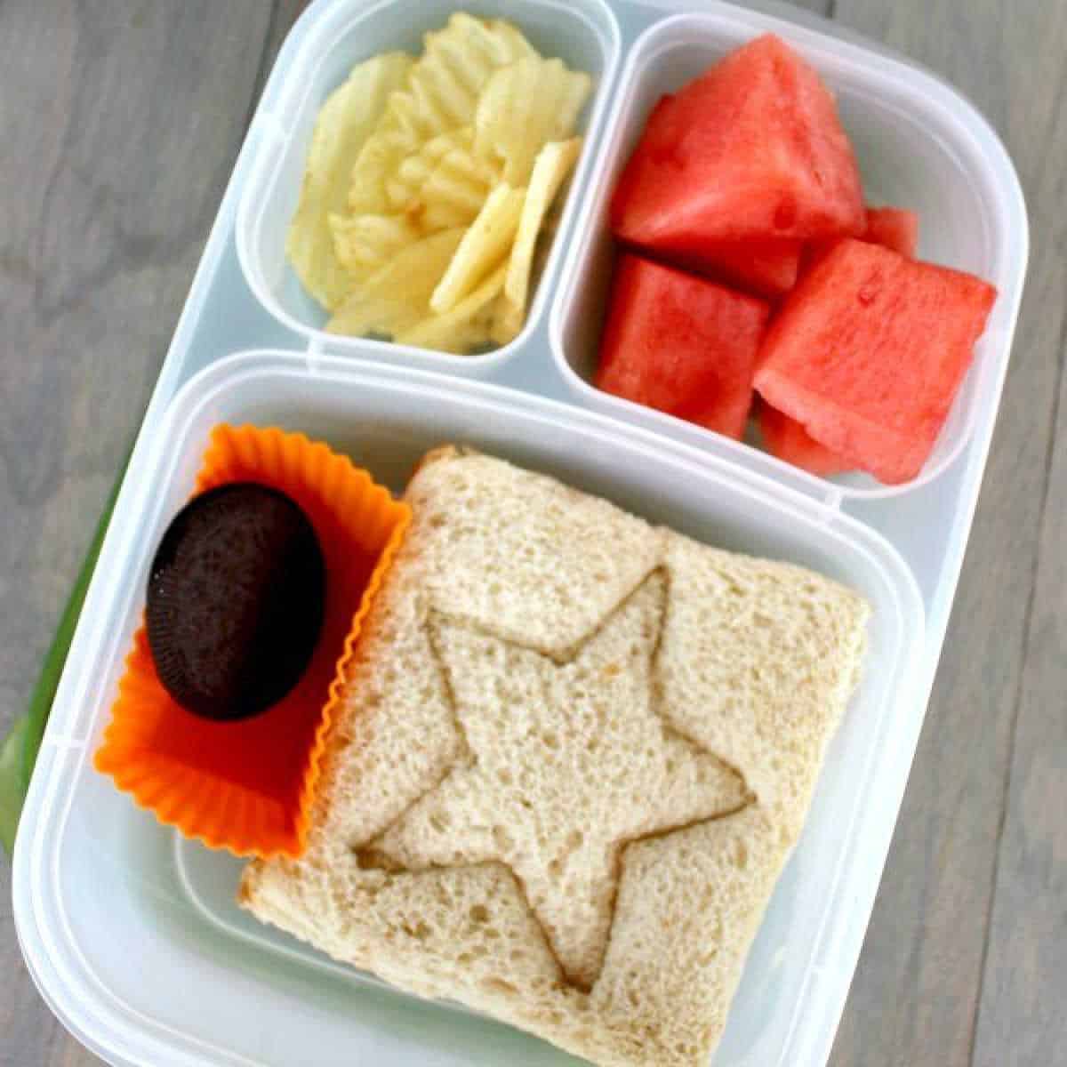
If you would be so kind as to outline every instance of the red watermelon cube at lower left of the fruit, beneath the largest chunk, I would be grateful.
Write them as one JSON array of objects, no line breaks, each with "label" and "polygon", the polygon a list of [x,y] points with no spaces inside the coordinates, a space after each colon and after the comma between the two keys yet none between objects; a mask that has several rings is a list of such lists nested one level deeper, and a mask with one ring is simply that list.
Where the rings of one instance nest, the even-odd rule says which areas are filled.
[{"label": "red watermelon cube at lower left of the fruit, beneath the largest chunk", "polygon": [[739,439],[769,309],[640,256],[616,266],[599,388]]}]

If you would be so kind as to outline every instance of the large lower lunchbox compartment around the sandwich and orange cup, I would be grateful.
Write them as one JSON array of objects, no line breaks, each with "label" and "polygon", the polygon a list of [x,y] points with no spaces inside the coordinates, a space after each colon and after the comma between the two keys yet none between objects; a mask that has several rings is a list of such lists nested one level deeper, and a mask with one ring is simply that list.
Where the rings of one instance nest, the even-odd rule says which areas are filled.
[{"label": "large lower lunchbox compartment around the sandwich and orange cup", "polygon": [[[461,387],[462,386],[462,387]],[[761,928],[716,1064],[793,1062],[813,969],[846,922],[840,894],[849,832],[877,802],[875,767],[891,748],[894,712],[922,642],[923,608],[907,568],[876,534],[727,462],[657,442],[573,408],[440,375],[344,357],[308,369],[297,354],[233,356],[177,396],[145,461],[126,515],[131,536],[91,627],[80,670],[93,684],[70,722],[84,743],[69,766],[60,812],[33,849],[36,907],[54,922],[48,957],[77,965],[78,996],[61,1015],[110,1022],[131,1062],[289,1065],[477,1065],[505,1055],[570,1062],[506,1026],[429,1006],[341,967],[241,912],[240,862],[182,841],[92,769],[123,657],[143,607],[154,545],[192,490],[219,421],[281,426],[327,441],[401,490],[418,459],[446,442],[544,471],[707,543],[814,568],[874,607],[864,678],[833,743],[802,843]],[[114,563],[103,560],[101,566]],[[68,980],[69,981],[69,980]],[[177,990],[180,990],[178,992]],[[798,1020],[800,1020],[798,1022]],[[180,1033],[179,1033],[180,1032]],[[121,1036],[115,1036],[121,1035]],[[142,1050],[141,1058],[131,1050]],[[144,1054],[150,1049],[152,1054]],[[205,1051],[206,1050],[206,1051]],[[375,1050],[370,1052],[368,1050]],[[243,1057],[243,1058],[242,1058]]]}]

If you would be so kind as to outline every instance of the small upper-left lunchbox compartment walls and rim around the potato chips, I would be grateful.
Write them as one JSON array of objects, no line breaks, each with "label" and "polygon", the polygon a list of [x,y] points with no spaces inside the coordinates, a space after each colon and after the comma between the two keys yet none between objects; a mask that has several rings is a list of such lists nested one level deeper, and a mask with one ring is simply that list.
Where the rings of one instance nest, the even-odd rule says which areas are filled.
[{"label": "small upper-left lunchbox compartment walls and rim around the potato chips", "polygon": [[[424,33],[443,27],[458,10],[508,19],[542,54],[559,57],[572,69],[585,70],[593,79],[592,96],[578,123],[586,142],[562,197],[559,225],[531,294],[525,328],[500,349],[465,356],[328,334],[322,329],[325,310],[304,291],[285,255],[286,233],[300,196],[319,109],[356,63],[396,49],[420,54]],[[236,237],[241,267],[256,299],[290,330],[335,352],[371,352],[376,357],[476,373],[519,352],[543,314],[570,230],[576,191],[586,180],[598,142],[619,51],[619,27],[603,0],[474,0],[459,5],[453,0],[420,0],[417,4],[337,0],[323,12],[293,57],[277,98],[269,108],[261,107],[255,117],[262,144],[241,196]]]}]

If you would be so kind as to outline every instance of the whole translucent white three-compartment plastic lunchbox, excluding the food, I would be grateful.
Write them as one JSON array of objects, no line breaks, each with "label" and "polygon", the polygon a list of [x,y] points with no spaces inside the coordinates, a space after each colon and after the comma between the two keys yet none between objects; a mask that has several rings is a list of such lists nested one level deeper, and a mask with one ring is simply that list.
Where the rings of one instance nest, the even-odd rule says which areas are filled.
[{"label": "whole translucent white three-compartment plastic lunchbox, excluding the food", "polygon": [[[462,6],[514,20],[590,70],[587,144],[529,321],[469,359],[321,331],[283,255],[317,108],[351,65],[415,48]],[[608,255],[606,197],[649,106],[773,30],[837,92],[872,197],[918,209],[922,254],[1000,300],[914,482],[826,481],[603,396],[588,377]],[[240,862],[162,828],[92,769],[150,554],[210,427],[303,430],[400,490],[461,441],[714,544],[849,583],[875,608],[861,689],[753,946],[715,1067],[822,1065],[862,944],[958,578],[1026,261],[1018,180],[955,92],[789,9],[698,0],[317,0],[264,92],[176,331],[85,601],[14,869],[27,964],[55,1014],[122,1065],[574,1063],[532,1037],[343,967],[233,903]]]}]

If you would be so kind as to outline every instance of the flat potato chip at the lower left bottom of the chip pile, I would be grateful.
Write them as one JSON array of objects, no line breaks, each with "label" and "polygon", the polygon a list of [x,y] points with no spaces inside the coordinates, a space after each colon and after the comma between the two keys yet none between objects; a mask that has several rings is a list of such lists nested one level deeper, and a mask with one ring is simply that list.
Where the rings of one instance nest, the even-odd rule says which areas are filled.
[{"label": "flat potato chip at the lower left bottom of the chip pile", "polygon": [[428,318],[430,294],[456,254],[463,234],[463,228],[457,227],[409,244],[355,287],[327,324],[327,330],[352,337],[368,334],[396,337]]}]

